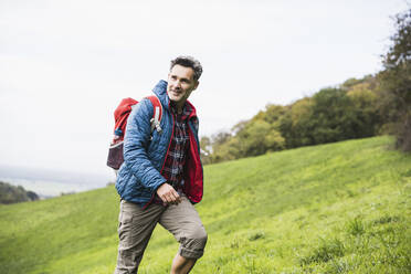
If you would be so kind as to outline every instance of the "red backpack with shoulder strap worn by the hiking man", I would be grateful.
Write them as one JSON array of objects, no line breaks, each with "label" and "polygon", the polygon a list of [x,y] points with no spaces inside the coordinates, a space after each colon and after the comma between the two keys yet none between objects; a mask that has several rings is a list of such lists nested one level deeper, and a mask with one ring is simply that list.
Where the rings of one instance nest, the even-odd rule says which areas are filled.
[{"label": "red backpack with shoulder strap worn by the hiking man", "polygon": [[[160,122],[162,116],[162,106],[157,96],[151,95],[147,97],[154,106],[154,116],[150,119],[151,123],[151,134],[156,129],[161,131]],[[133,107],[138,104],[137,101],[133,98],[124,98],[120,104],[114,110],[114,138],[108,149],[107,166],[118,170],[124,161],[123,156],[123,144],[124,135],[126,133],[127,118],[131,113]],[[151,136],[152,138],[152,136]]]}]

